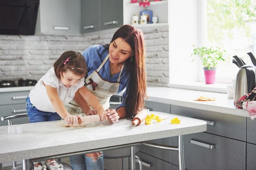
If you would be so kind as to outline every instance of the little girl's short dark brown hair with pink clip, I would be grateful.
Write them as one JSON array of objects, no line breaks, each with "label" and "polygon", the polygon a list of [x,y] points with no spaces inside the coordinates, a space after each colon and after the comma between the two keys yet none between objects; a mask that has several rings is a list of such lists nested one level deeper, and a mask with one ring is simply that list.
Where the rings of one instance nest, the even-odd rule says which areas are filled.
[{"label": "little girl's short dark brown hair with pink clip", "polygon": [[[70,58],[70,59],[68,59]],[[66,61],[68,59],[68,61]],[[66,62],[65,62],[66,61]],[[66,64],[64,64],[66,63]],[[83,55],[76,51],[66,51],[54,63],[54,72],[60,79],[63,72],[71,71],[73,74],[85,76],[87,66]]]}]

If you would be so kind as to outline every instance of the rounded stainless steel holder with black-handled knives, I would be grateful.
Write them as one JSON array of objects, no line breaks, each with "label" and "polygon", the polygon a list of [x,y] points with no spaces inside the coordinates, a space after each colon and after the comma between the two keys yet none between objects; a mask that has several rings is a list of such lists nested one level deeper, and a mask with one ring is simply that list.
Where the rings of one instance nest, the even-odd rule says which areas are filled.
[{"label": "rounded stainless steel holder with black-handled knives", "polygon": [[240,68],[236,75],[234,101],[240,99],[256,86],[256,59],[251,52],[248,52],[247,54],[250,56],[254,65],[247,65],[239,57],[233,56],[233,63]]}]

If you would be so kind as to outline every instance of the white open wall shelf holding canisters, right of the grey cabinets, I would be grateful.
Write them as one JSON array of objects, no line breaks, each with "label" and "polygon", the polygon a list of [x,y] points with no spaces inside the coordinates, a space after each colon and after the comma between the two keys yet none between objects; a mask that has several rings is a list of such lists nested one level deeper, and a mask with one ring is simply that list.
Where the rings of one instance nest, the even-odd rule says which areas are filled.
[{"label": "white open wall shelf holding canisters, right of the grey cabinets", "polygon": [[152,10],[153,16],[157,17],[158,21],[156,24],[134,24],[133,26],[157,26],[157,25],[168,25],[168,0],[150,0],[150,5],[139,6],[137,3],[131,3],[131,0],[124,0],[124,24],[132,24],[132,16],[137,14],[140,20],[140,12],[145,10]]}]

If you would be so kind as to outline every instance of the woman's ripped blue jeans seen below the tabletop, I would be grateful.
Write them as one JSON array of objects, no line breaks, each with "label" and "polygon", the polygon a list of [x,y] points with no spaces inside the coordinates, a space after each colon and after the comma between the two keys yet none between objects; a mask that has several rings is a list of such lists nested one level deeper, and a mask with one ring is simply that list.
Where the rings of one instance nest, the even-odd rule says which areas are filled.
[{"label": "woman's ripped blue jeans seen below the tabletop", "polygon": [[103,154],[96,162],[85,155],[72,156],[70,162],[74,170],[104,170]]}]

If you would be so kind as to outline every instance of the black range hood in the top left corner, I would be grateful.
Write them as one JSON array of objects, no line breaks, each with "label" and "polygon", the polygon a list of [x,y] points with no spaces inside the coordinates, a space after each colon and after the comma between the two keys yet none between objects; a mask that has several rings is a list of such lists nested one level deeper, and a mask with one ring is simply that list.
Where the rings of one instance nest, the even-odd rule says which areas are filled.
[{"label": "black range hood in the top left corner", "polygon": [[39,0],[0,0],[0,34],[34,35]]}]

